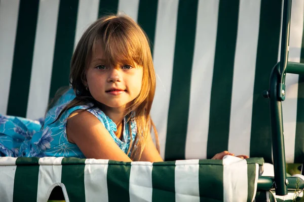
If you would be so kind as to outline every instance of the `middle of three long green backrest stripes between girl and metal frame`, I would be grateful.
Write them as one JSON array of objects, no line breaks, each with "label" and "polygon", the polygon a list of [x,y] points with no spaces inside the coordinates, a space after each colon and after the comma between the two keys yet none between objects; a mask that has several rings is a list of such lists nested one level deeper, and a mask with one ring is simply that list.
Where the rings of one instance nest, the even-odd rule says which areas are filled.
[{"label": "middle of three long green backrest stripes between girl and metal frame", "polygon": [[[219,2],[213,79],[210,97],[209,132],[207,143],[208,159],[211,159],[215,154],[220,153],[223,150],[228,150],[238,16],[239,1],[222,0]],[[205,102],[208,102],[208,100],[205,100]]]}]

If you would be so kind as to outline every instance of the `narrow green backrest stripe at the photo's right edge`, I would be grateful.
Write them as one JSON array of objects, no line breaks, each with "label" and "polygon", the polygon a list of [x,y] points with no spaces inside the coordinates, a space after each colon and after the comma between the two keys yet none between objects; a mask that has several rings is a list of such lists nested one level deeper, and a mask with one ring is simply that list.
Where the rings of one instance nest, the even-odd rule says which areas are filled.
[{"label": "narrow green backrest stripe at the photo's right edge", "polygon": [[[302,31],[301,58],[300,63],[304,63],[304,29]],[[294,163],[304,163],[304,75],[299,75],[298,96],[297,96],[297,113],[296,113],[296,130],[294,146]]]}]

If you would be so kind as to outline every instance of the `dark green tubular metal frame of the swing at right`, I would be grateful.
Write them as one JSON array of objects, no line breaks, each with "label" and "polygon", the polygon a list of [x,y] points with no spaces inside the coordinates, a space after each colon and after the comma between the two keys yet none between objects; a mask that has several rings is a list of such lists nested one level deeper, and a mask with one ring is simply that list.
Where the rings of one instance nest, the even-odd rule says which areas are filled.
[{"label": "dark green tubular metal frame of the swing at right", "polygon": [[296,180],[299,180],[300,182],[299,188],[304,188],[303,180],[299,178],[286,177],[282,116],[282,101],[285,100],[285,77],[286,73],[304,74],[304,64],[288,62],[290,16],[291,0],[284,0],[280,62],[272,69],[269,90],[263,92],[263,96],[265,98],[270,98],[275,177],[259,177],[257,189],[270,190],[275,188],[276,195],[287,195],[288,189],[294,189]]}]

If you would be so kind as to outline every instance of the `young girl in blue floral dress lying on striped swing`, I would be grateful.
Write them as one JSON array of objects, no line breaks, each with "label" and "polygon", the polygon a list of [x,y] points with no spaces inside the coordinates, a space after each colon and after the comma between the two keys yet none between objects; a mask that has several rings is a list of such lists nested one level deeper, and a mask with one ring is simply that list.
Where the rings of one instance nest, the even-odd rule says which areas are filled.
[{"label": "young girl in blue floral dress lying on striped swing", "polygon": [[[72,56],[70,84],[39,132],[0,117],[0,131],[14,128],[0,135],[0,156],[163,161],[150,118],[156,86],[150,47],[131,18],[102,17],[86,30]],[[214,159],[225,155],[233,154]]]}]

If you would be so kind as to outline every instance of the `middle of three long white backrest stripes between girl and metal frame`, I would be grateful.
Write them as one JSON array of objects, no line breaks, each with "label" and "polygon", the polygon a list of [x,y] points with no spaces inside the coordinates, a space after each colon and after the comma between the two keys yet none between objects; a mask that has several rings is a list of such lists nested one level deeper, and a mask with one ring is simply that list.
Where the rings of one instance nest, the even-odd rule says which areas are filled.
[{"label": "middle of three long white backrest stripes between girl and metal frame", "polygon": [[[218,5],[218,0],[199,1],[191,75],[189,117],[185,142],[186,159],[207,158]],[[202,99],[204,100],[203,102]]]}]

